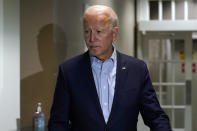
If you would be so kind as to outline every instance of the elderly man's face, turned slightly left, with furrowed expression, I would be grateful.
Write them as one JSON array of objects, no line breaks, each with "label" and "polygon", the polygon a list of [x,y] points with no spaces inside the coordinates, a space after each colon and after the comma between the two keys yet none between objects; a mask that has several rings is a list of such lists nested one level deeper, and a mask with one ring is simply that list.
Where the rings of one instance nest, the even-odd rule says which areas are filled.
[{"label": "elderly man's face, turned slightly left, with furrowed expression", "polygon": [[106,60],[113,52],[112,42],[116,39],[118,27],[112,27],[109,16],[104,13],[90,13],[84,17],[84,37],[91,55]]}]

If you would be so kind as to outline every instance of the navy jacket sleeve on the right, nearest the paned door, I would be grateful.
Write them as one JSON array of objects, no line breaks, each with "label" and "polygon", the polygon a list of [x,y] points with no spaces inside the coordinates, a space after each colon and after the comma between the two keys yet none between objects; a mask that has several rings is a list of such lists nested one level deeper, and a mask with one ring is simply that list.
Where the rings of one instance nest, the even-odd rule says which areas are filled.
[{"label": "navy jacket sleeve on the right, nearest the paned door", "polygon": [[145,63],[142,71],[143,84],[140,112],[144,123],[150,127],[151,131],[172,131],[168,116],[161,109],[157,100]]}]

